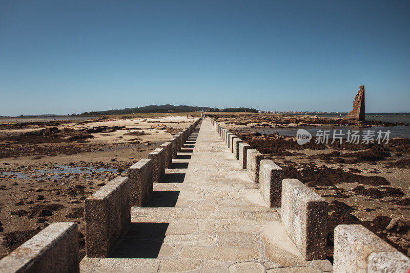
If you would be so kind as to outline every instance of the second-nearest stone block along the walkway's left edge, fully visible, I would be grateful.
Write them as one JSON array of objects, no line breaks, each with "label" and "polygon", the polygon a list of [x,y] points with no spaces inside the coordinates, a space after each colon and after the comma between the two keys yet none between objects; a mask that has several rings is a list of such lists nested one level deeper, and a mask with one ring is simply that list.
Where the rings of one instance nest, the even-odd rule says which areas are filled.
[{"label": "second-nearest stone block along the walkway's left edge, fully visible", "polygon": [[106,258],[131,222],[130,179],[117,177],[85,200],[87,257]]}]

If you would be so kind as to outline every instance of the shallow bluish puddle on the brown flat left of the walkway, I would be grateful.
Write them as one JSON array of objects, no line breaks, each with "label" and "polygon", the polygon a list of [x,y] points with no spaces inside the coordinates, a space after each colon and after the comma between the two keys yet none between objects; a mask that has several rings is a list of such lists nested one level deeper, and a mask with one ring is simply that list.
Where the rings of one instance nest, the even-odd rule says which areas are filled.
[{"label": "shallow bluish puddle on the brown flat left of the walkway", "polygon": [[[4,177],[6,175],[14,175],[14,177],[10,178],[24,178],[24,179],[30,179],[33,178],[31,176],[39,176],[39,174],[44,174],[44,176],[41,177],[35,177],[34,179],[40,180],[40,179],[46,179],[46,178],[51,178],[51,179],[59,179],[59,178],[71,178],[74,176],[75,173],[100,173],[100,172],[113,172],[117,173],[116,169],[113,168],[97,168],[97,167],[70,167],[70,166],[64,166],[64,165],[56,165],[57,168],[55,169],[44,169],[44,170],[34,170],[37,171],[38,173],[35,174],[26,174],[22,172],[2,172],[0,173],[0,177]],[[47,174],[53,174],[53,175],[47,175]]]}]

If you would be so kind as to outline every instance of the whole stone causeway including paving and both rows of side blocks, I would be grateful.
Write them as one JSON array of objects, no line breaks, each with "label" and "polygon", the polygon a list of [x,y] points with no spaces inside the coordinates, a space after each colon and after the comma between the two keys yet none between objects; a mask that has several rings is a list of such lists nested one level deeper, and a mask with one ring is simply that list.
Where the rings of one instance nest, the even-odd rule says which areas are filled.
[{"label": "whole stone causeway including paving and both rows of side blocks", "polygon": [[[53,223],[0,261],[0,272],[410,267],[407,257],[361,225],[336,227],[332,265],[325,252],[327,203],[300,181],[283,178],[283,170],[217,122],[198,120],[133,165],[128,178],[86,199],[87,257],[79,264],[72,258],[75,224]],[[22,252],[27,248],[31,252]]]}]

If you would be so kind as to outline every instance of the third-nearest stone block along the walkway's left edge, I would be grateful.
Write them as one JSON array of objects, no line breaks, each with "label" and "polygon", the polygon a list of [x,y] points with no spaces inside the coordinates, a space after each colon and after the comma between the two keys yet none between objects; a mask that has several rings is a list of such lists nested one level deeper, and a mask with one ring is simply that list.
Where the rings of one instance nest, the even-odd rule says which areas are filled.
[{"label": "third-nearest stone block along the walkway's left edge", "polygon": [[130,179],[130,204],[131,207],[142,207],[153,191],[152,160],[142,158],[127,170]]}]

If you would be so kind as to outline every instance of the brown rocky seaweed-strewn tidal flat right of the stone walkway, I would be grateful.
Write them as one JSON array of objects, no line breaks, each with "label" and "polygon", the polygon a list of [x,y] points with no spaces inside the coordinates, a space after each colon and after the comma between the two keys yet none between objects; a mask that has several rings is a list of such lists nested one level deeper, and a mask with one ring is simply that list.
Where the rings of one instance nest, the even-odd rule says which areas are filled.
[{"label": "brown rocky seaweed-strewn tidal flat right of the stone walkway", "polygon": [[[265,159],[284,169],[329,202],[327,255],[333,256],[333,231],[338,224],[363,224],[410,257],[410,139],[393,137],[388,143],[299,145],[296,130],[331,128],[410,133],[408,125],[385,121],[252,113],[217,114],[213,118],[231,130]],[[283,134],[285,133],[285,134]],[[289,135],[294,133],[293,135]]]}]

